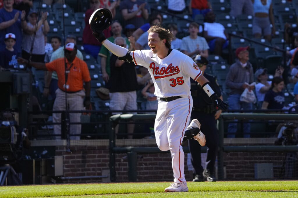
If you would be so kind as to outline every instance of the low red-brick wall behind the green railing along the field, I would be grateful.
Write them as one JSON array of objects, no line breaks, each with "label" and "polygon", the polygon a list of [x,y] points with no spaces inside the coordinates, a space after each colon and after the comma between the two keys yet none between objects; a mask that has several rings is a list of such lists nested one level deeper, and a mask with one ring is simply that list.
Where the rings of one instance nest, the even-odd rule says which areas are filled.
[{"label": "low red-brick wall behind the green railing along the field", "polygon": [[[248,138],[247,138],[248,139]],[[258,145],[268,145],[263,142],[264,138]],[[76,143],[85,144],[88,140],[79,140]],[[98,140],[99,141],[99,140]],[[103,170],[109,170],[109,150],[108,140],[100,140],[97,145],[75,145],[71,142],[70,151],[66,151],[66,143],[56,146],[55,155],[63,156],[64,177],[76,176],[95,176],[104,175]],[[155,140],[117,140],[118,146],[156,146]],[[122,142],[121,142],[122,141]],[[225,145],[247,145],[248,142],[226,141]],[[256,140],[252,140],[250,145],[256,145]],[[57,143],[57,142],[56,142]],[[35,142],[36,144],[36,142]],[[41,143],[43,144],[43,143]],[[53,143],[55,144],[55,142]],[[92,142],[92,144],[95,144]],[[34,145],[34,143],[33,143]],[[187,156],[187,154],[185,154]],[[117,182],[128,181],[128,160],[126,154],[116,154],[116,180]],[[277,152],[239,152],[224,153],[224,166],[226,167],[226,179],[228,180],[246,180],[254,179],[255,163],[273,163],[274,178],[283,179],[283,160],[285,153]],[[192,180],[191,171],[187,171],[187,157],[185,157],[185,178]],[[296,167],[297,169],[298,167]],[[137,162],[137,180],[138,181],[172,181],[173,171],[170,153],[159,154],[138,154]],[[296,170],[297,171],[297,170]],[[106,174],[106,172],[105,172]],[[102,182],[101,178],[97,179],[72,179],[61,180],[64,183],[84,183],[84,182]]]}]

